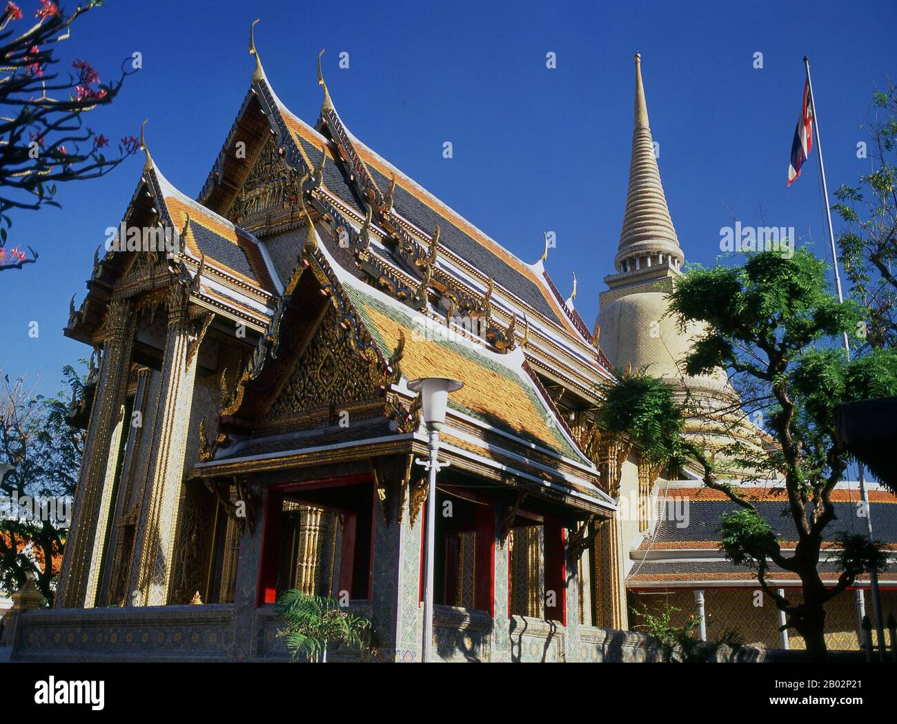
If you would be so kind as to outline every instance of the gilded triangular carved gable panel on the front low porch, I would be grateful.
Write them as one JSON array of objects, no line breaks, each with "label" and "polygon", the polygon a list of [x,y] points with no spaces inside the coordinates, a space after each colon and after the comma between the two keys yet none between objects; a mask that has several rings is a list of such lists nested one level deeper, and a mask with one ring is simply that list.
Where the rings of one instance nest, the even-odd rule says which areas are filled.
[{"label": "gilded triangular carved gable panel on the front low porch", "polygon": [[372,363],[353,352],[340,331],[336,310],[330,307],[274,400],[268,423],[298,422],[307,416],[303,412],[351,407],[377,397]]}]

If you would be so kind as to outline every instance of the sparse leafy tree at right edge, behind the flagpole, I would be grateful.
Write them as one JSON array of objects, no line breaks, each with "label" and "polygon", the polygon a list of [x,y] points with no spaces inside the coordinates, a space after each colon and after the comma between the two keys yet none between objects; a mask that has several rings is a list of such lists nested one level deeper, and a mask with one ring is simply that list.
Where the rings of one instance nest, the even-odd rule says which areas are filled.
[{"label": "sparse leafy tree at right edge, behind the flagpole", "polygon": [[[876,92],[861,126],[877,166],[860,176],[859,186],[841,185],[832,208],[844,222],[838,237],[840,261],[853,297],[867,309],[861,336],[867,345],[897,345],[897,86]],[[865,142],[864,142],[865,144]],[[865,150],[865,149],[864,149]]]}]

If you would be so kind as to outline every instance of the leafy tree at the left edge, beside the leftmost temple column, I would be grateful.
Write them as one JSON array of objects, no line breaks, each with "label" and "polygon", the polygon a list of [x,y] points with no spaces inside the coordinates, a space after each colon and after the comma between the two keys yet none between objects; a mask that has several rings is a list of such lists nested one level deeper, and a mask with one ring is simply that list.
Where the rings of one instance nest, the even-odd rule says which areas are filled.
[{"label": "leafy tree at the left edge, beside the leftmost temple column", "polygon": [[70,395],[32,395],[22,379],[0,379],[0,589],[19,589],[29,573],[48,606],[56,591],[59,563],[71,518],[84,433],[70,427],[67,397],[80,394],[83,380],[66,365]]}]

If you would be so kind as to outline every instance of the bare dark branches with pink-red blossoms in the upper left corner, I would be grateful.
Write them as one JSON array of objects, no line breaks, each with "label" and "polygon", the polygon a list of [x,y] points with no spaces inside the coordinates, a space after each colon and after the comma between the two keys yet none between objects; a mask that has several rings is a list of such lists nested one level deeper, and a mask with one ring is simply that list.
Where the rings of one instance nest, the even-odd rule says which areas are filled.
[{"label": "bare dark branches with pink-red blossoms in the upper left corner", "polygon": [[100,75],[82,58],[72,61],[65,77],[52,72],[60,63],[56,46],[71,37],[72,23],[101,4],[91,0],[66,15],[51,0],[39,0],[37,22],[21,33],[15,30],[22,20],[16,4],[7,3],[0,14],[0,271],[37,259],[21,243],[6,248],[10,211],[58,206],[57,183],[104,176],[139,148],[134,136],[126,136],[118,155],[107,158],[103,149],[109,139],[84,126],[83,118],[115,99],[126,75],[139,67],[136,60],[130,70],[123,65],[112,83],[100,83]]}]

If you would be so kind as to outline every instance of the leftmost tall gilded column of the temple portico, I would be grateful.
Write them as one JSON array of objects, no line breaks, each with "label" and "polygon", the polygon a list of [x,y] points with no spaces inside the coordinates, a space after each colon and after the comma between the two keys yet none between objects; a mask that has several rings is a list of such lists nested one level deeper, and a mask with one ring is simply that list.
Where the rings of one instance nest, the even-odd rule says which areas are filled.
[{"label": "leftmost tall gilded column of the temple portico", "polygon": [[122,409],[131,367],[135,317],[130,301],[109,301],[103,327],[103,355],[74,496],[73,525],[57,590],[57,606],[91,607],[114,484],[114,450],[122,434]]}]

